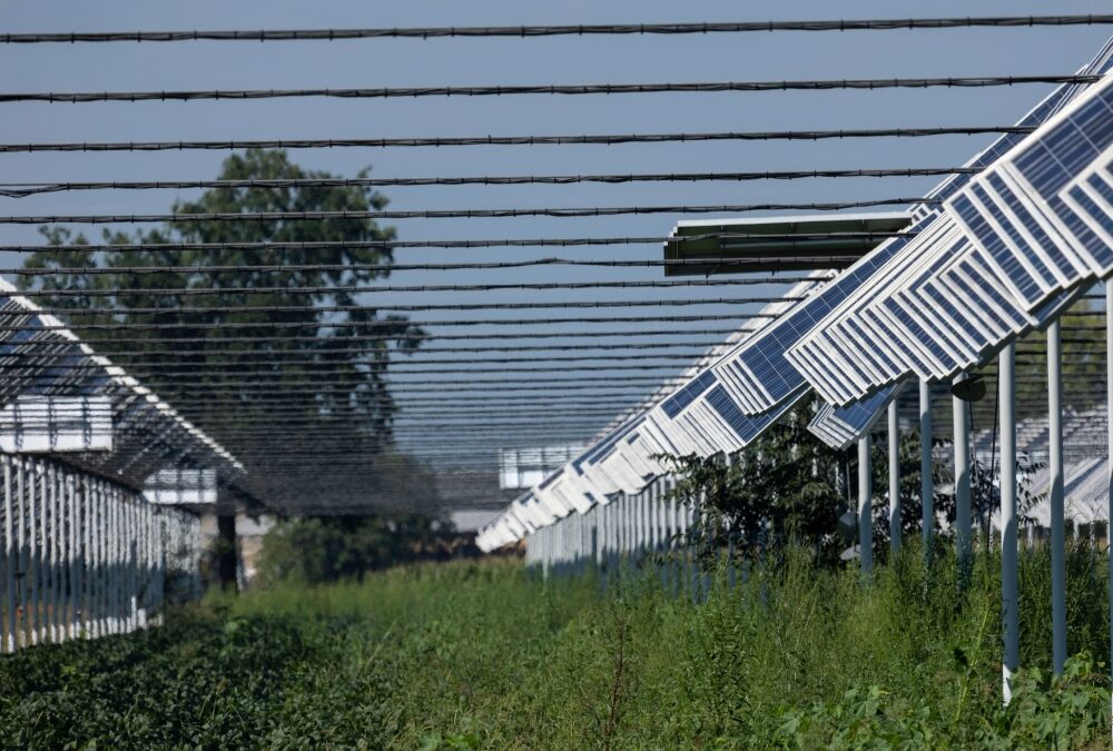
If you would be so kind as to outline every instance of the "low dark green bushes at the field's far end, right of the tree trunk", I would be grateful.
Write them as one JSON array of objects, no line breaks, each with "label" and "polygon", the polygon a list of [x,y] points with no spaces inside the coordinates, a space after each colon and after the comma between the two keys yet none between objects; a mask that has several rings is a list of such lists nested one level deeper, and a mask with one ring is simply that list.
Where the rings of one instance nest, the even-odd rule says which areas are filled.
[{"label": "low dark green bushes at the field's far end, right of the tree trunk", "polygon": [[423,514],[284,520],[263,538],[260,583],[363,579],[372,571],[444,554],[454,536],[452,522]]}]

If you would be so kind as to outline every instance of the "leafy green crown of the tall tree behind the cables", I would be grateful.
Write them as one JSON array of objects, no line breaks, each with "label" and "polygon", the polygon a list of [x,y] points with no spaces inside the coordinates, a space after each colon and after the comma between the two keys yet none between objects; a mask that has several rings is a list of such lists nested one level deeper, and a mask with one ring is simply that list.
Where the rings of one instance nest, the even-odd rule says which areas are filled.
[{"label": "leafy green crown of the tall tree behind the cables", "polygon": [[[218,179],[328,177],[333,176],[302,169],[284,150],[249,150],[225,159]],[[176,202],[173,211],[368,211],[385,206],[384,196],[358,187],[248,187],[206,190],[195,201]],[[364,307],[366,300],[353,288],[388,276],[392,251],[378,244],[394,238],[393,228],[349,218],[178,221],[135,235],[106,230],[102,238],[107,244],[180,244],[177,247],[104,255],[82,250],[87,239],[67,228],[41,231],[56,247],[31,255],[24,267],[49,274],[21,276],[21,286],[57,291],[43,304],[68,309],[72,324],[148,326],[131,329],[129,336],[140,340],[129,343],[129,355],[116,358],[121,365],[138,357],[148,364],[196,368],[191,386],[221,392],[223,401],[236,405],[227,416],[243,417],[245,426],[259,416],[273,424],[274,397],[288,393],[298,398],[287,399],[294,404],[283,416],[294,424],[319,423],[337,445],[375,448],[388,438],[394,405],[383,374],[391,352],[412,352],[423,332],[405,317],[380,316]],[[333,245],[296,245],[303,241]],[[224,243],[243,245],[207,245]],[[264,243],[295,245],[259,245]],[[53,270],[58,268],[79,270],[60,274]],[[200,290],[206,294],[197,295]],[[236,324],[255,328],[245,330]],[[141,340],[144,334],[149,340]],[[118,332],[89,329],[82,335],[93,343],[110,343]],[[306,398],[312,388],[307,375],[325,367],[341,386]],[[157,374],[149,382],[167,394],[181,386],[180,378],[160,379]],[[292,412],[297,405],[301,414]],[[272,442],[285,441],[280,432],[258,435],[254,448],[266,454]]]}]

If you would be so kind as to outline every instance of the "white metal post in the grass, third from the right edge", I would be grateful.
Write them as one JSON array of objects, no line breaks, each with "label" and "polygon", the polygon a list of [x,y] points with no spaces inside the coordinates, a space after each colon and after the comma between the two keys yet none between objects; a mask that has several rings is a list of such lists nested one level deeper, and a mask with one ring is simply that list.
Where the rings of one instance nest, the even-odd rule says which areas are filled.
[{"label": "white metal post in the grass, third from the right edge", "polygon": [[1016,535],[1016,345],[997,358],[1001,394],[1001,617],[1005,636],[1001,691],[1005,704],[1013,700],[1013,674],[1020,663],[1020,599]]}]

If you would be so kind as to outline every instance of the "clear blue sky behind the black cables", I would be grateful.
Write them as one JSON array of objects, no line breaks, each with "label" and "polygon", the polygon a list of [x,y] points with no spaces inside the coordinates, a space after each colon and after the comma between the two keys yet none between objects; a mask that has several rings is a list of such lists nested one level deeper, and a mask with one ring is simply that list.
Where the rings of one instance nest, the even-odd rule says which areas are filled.
[{"label": "clear blue sky behind the black cables", "polygon": [[[1048,2],[112,2],[9,3],[6,31],[322,28],[520,23],[892,18],[1089,13],[1095,1]],[[0,90],[235,89],[411,85],[595,83],[1068,73],[1109,28],[981,29],[707,37],[184,42],[0,46]],[[1005,125],[1050,87],[998,89],[2,105],[0,140],[177,140],[434,135],[605,134],[785,128]],[[302,165],[352,176],[764,170],[952,166],[986,138],[823,144],[750,142],[621,147],[337,149],[294,152]],[[205,179],[223,152],[41,154],[0,157],[0,181]],[[779,184],[394,188],[397,209],[848,200],[919,195],[920,179]],[[189,191],[58,194],[0,199],[0,214],[159,213]],[[395,223],[401,239],[666,235],[679,216]],[[697,217],[690,217],[697,218]],[[703,217],[706,218],[706,217]],[[35,243],[31,227],[0,226],[3,243]],[[398,261],[500,260],[531,256],[644,258],[657,247],[402,250]],[[4,259],[3,265],[11,265]],[[395,284],[479,280],[649,279],[660,269],[572,268],[395,274]],[[716,294],[728,290],[717,289]],[[747,288],[747,291],[756,291]],[[706,296],[707,290],[599,290],[433,295],[421,302]],[[410,296],[408,302],[417,302]],[[376,299],[380,299],[376,296]],[[385,298],[384,298],[385,299]],[[716,308],[701,308],[718,312]],[[742,313],[742,312],[738,312]],[[431,314],[433,315],[433,314]],[[461,314],[466,315],[466,314]],[[487,315],[487,314],[475,314]],[[539,314],[540,315],[540,314]],[[697,326],[698,327],[698,326]],[[481,329],[475,329],[481,330]],[[679,327],[678,327],[679,330]],[[418,356],[420,357],[420,356]],[[663,374],[663,372],[662,372]],[[587,437],[584,435],[583,437]],[[529,442],[525,442],[529,443]]]}]

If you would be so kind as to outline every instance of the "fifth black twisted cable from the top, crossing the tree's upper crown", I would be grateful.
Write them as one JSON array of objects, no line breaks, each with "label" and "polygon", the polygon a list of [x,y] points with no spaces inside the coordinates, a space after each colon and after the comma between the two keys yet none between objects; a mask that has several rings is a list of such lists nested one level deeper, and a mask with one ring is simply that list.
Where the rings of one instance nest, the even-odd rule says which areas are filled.
[{"label": "fifth black twisted cable from the top, crossing the tree's upper crown", "polygon": [[610,206],[582,208],[431,209],[417,211],[265,211],[258,214],[86,214],[48,216],[0,216],[0,224],[147,224],[191,221],[323,221],[329,219],[500,219],[513,217],[601,217],[627,214],[742,214],[749,211],[838,211],[874,206],[935,205],[932,198],[877,198],[857,201],[811,204],[723,204],[719,206]]}]

